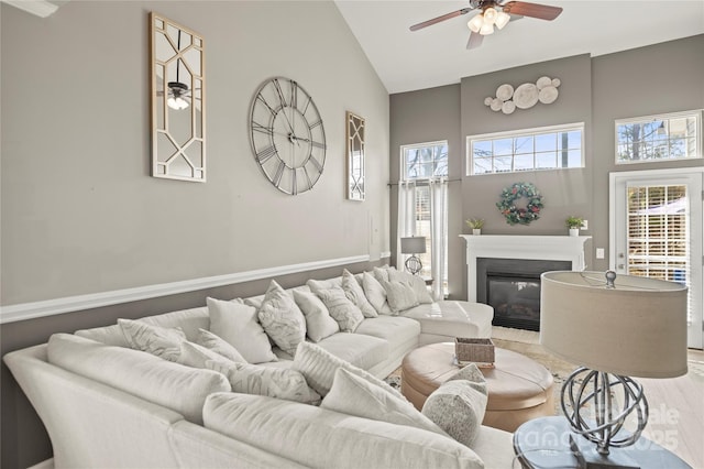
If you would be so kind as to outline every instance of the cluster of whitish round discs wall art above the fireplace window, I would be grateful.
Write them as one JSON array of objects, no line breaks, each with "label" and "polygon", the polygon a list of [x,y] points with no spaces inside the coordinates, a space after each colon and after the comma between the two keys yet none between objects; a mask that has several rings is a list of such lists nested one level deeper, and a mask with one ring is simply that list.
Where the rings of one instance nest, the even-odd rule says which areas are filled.
[{"label": "cluster of whitish round discs wall art above the fireplace window", "polygon": [[538,102],[550,105],[558,99],[560,91],[560,78],[542,76],[532,83],[525,83],[514,89],[508,84],[496,88],[496,97],[491,96],[484,99],[484,105],[493,111],[502,111],[505,114],[513,113],[516,109],[530,109]]}]

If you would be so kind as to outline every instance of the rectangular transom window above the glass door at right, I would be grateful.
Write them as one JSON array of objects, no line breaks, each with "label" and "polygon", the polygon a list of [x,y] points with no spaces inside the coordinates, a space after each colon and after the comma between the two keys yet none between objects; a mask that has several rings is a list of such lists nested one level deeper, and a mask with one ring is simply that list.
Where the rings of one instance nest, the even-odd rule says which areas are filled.
[{"label": "rectangular transom window above the glass door at right", "polygon": [[616,164],[702,157],[701,111],[616,121]]}]

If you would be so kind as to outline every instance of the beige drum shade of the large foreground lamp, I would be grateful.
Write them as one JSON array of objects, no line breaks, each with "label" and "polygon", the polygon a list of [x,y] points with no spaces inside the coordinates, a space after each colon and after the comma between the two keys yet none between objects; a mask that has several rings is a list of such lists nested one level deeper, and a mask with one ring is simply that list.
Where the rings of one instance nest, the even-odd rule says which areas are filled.
[{"label": "beige drum shade of the large foreground lamp", "polygon": [[541,275],[540,343],[579,366],[612,374],[685,374],[688,288],[679,283],[603,272]]}]

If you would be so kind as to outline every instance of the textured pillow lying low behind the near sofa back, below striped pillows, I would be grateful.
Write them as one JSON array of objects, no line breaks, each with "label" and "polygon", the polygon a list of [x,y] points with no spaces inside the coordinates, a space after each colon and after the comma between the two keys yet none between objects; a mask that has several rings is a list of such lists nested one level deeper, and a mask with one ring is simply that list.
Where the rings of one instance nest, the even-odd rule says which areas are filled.
[{"label": "textured pillow lying low behind the near sofa back, below striped pillows", "polygon": [[287,368],[268,368],[248,363],[208,361],[206,367],[224,374],[233,392],[318,405],[320,395],[308,388],[301,373]]}]

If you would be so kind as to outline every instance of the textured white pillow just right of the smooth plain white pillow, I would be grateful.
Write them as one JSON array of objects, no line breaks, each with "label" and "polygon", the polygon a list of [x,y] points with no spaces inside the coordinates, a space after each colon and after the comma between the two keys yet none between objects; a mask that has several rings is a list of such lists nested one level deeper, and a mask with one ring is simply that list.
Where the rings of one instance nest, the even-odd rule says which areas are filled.
[{"label": "textured white pillow just right of the smooth plain white pillow", "polygon": [[257,315],[266,335],[286,353],[294,356],[298,343],[306,340],[306,318],[276,281],[270,283]]}]

